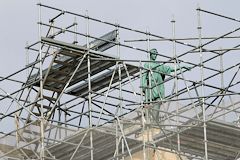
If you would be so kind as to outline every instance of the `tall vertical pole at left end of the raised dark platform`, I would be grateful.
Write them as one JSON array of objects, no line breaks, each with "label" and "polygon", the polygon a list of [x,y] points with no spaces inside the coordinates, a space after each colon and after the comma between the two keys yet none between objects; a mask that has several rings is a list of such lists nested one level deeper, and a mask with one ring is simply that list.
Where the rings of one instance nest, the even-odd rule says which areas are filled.
[{"label": "tall vertical pole at left end of the raised dark platform", "polygon": [[[40,4],[40,1],[39,1]],[[42,26],[41,26],[41,19],[42,19],[42,13],[41,13],[41,5],[38,5],[38,38],[40,41],[39,44],[39,70],[40,70],[40,105],[41,105],[41,117],[40,117],[40,142],[41,142],[41,149],[40,149],[40,159],[44,160],[44,111],[43,111],[43,73],[42,73],[42,43],[41,43],[41,35],[42,35]]]}]

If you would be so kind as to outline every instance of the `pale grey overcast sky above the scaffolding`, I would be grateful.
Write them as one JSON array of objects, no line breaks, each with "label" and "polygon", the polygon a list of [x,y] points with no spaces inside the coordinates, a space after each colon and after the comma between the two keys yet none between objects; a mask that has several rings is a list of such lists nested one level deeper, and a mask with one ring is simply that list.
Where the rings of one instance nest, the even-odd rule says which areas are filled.
[{"label": "pale grey overcast sky above the scaffolding", "polygon": [[[0,0],[0,76],[22,68],[25,64],[26,42],[31,44],[37,41],[38,2]],[[150,32],[166,37],[171,35],[170,21],[174,15],[176,35],[180,38],[197,36],[198,4],[206,10],[233,18],[240,17],[240,1],[237,0],[42,0],[41,3],[81,14],[88,10],[92,17],[142,31],[148,28]],[[203,29],[203,36],[215,36],[214,32],[219,28],[222,29],[220,34],[234,28],[228,28],[227,21],[221,21],[216,21],[220,22],[220,26],[203,17],[203,25],[208,25],[208,29]]]}]

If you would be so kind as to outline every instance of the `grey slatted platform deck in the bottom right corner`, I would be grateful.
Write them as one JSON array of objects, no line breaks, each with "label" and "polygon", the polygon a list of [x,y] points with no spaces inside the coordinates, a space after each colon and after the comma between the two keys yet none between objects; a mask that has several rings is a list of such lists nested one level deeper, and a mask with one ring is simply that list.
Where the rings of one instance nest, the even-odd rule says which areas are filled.
[{"label": "grey slatted platform deck in the bottom right corner", "polygon": [[[164,138],[165,137],[165,138]],[[160,140],[161,139],[161,140]],[[204,157],[203,128],[192,127],[180,133],[181,151]],[[165,148],[177,148],[177,135],[158,135],[157,145]],[[207,123],[208,156],[214,160],[233,160],[240,151],[240,128],[219,121]]]}]

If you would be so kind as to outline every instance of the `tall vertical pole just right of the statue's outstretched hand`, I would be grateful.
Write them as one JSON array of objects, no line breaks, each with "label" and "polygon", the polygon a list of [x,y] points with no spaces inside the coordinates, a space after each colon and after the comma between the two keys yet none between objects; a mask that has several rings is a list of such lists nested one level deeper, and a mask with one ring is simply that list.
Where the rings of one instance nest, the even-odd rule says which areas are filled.
[{"label": "tall vertical pole just right of the statue's outstretched hand", "polygon": [[201,72],[201,92],[202,92],[202,113],[203,113],[203,134],[204,134],[204,152],[205,160],[208,160],[208,146],[207,146],[207,124],[206,124],[206,113],[205,113],[205,98],[204,98],[204,71],[203,71],[203,52],[202,52],[202,26],[200,17],[200,7],[197,8],[198,17],[198,38],[199,38],[199,56],[200,56],[200,72]]}]

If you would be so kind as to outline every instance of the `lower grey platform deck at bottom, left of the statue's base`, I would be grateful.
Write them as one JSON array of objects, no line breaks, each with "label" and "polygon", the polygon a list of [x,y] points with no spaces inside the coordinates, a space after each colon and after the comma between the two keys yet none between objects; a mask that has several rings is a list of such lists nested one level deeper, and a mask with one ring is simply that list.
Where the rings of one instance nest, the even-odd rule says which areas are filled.
[{"label": "lower grey platform deck at bottom, left of the statue's base", "polygon": [[[93,156],[94,160],[110,160],[114,157],[114,153],[116,150],[116,138],[122,138],[121,134],[119,137],[116,137],[115,133],[111,131],[112,128],[106,127],[99,128],[99,129],[92,129],[93,135]],[[127,145],[124,145],[124,149],[122,151],[121,145],[119,145],[119,155],[128,157],[129,153],[126,148],[128,146],[131,149],[131,153],[139,151],[142,148],[142,141],[132,139],[132,138],[125,138]],[[125,141],[123,140],[123,141]],[[119,142],[121,144],[122,140]],[[77,149],[76,146],[81,143],[80,147]],[[125,143],[125,142],[124,142]],[[71,159],[71,156],[75,152],[73,156],[73,160],[82,159],[82,160],[89,160],[91,159],[91,154],[89,152],[90,146],[90,131],[83,131],[73,136],[68,137],[67,139],[63,140],[62,142],[52,145],[48,147],[50,153],[55,156],[56,159],[65,160]]]}]

